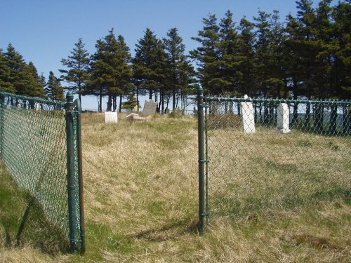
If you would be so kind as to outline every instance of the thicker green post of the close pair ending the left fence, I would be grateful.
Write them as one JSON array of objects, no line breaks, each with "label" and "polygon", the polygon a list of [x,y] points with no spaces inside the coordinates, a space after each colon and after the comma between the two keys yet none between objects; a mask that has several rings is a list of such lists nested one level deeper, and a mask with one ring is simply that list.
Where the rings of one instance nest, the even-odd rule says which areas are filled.
[{"label": "thicker green post of the close pair ending the left fence", "polygon": [[74,205],[76,187],[74,183],[74,135],[73,135],[73,94],[66,95],[66,133],[67,133],[67,193],[68,193],[68,217],[69,217],[69,249],[77,250],[77,215]]}]

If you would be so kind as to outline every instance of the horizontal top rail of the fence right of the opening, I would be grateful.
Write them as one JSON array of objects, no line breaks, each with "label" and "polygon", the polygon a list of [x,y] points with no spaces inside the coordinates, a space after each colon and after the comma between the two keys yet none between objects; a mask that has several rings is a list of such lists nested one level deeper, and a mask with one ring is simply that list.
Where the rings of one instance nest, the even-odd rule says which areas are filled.
[{"label": "horizontal top rail of the fence right of the opening", "polygon": [[289,99],[258,99],[242,97],[204,97],[206,102],[274,102],[274,103],[318,103],[318,104],[339,104],[350,106],[351,100],[289,100]]}]

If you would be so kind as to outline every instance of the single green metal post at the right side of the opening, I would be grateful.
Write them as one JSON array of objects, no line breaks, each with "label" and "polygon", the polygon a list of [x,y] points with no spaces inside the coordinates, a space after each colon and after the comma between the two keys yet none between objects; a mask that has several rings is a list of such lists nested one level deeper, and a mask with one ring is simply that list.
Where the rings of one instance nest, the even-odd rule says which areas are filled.
[{"label": "single green metal post at the right side of the opening", "polygon": [[197,90],[197,118],[199,138],[199,232],[204,234],[205,224],[205,176],[204,176],[204,90]]}]

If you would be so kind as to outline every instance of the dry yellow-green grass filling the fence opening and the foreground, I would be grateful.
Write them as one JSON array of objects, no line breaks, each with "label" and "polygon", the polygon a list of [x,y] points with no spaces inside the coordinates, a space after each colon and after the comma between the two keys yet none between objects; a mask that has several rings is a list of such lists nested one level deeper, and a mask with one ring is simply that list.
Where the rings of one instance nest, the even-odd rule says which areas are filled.
[{"label": "dry yellow-green grass filling the fence opening and the foreground", "polygon": [[[13,244],[27,196],[1,166],[0,262],[351,261],[350,195],[215,217],[199,236],[197,120],[130,123],[125,116],[116,125],[106,125],[102,114],[82,116],[85,255],[62,252],[39,208],[22,244]],[[346,145],[350,155],[350,138]]]}]

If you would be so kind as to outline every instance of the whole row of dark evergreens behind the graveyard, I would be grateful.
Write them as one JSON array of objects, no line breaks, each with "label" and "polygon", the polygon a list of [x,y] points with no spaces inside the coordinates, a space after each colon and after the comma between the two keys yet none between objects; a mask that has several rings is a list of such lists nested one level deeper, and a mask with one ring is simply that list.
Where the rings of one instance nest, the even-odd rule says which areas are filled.
[{"label": "whole row of dark evergreens behind the graveyard", "polygon": [[53,100],[63,100],[64,89],[80,99],[95,95],[100,112],[102,97],[108,111],[121,111],[139,105],[140,95],[157,100],[160,112],[175,110],[199,85],[207,95],[350,99],[350,3],[322,0],[314,8],[311,0],[298,0],[296,15],[284,22],[279,11],[258,11],[253,21],[244,17],[238,24],[231,11],[220,20],[210,14],[192,38],[199,46],[188,54],[177,28],[164,39],[147,28],[133,57],[111,29],[93,54],[79,39],[61,60],[61,76],[50,72],[48,81],[9,44],[0,50],[0,90]]}]

